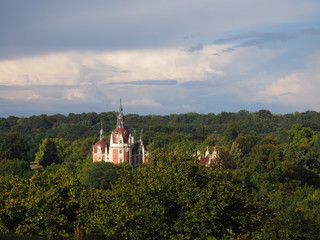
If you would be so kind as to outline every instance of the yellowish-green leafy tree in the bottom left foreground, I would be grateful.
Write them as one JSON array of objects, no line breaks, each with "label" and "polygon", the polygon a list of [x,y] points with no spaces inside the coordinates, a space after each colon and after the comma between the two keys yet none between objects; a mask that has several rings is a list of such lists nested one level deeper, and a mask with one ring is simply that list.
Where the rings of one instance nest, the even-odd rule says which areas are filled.
[{"label": "yellowish-green leafy tree in the bottom left foreground", "polygon": [[0,230],[49,239],[71,239],[94,230],[94,211],[106,204],[105,192],[87,190],[65,170],[36,173],[29,180],[0,178]]}]

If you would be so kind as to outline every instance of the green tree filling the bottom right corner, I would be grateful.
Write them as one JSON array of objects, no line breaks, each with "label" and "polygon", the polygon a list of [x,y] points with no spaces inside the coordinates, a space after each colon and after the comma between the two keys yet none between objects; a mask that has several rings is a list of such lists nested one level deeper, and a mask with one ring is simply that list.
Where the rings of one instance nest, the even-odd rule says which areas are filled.
[{"label": "green tree filling the bottom right corner", "polygon": [[290,195],[277,191],[272,194],[272,214],[255,239],[319,239],[320,192],[305,186]]}]

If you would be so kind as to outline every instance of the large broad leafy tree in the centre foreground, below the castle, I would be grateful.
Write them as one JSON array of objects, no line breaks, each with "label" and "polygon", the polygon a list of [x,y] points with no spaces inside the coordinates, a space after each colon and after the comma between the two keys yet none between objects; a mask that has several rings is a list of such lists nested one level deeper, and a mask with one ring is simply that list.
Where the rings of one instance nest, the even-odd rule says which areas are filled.
[{"label": "large broad leafy tree in the centre foreground, below the castle", "polygon": [[123,172],[97,226],[115,239],[250,236],[259,226],[258,204],[232,184],[228,172],[176,154],[163,153],[157,164]]}]

